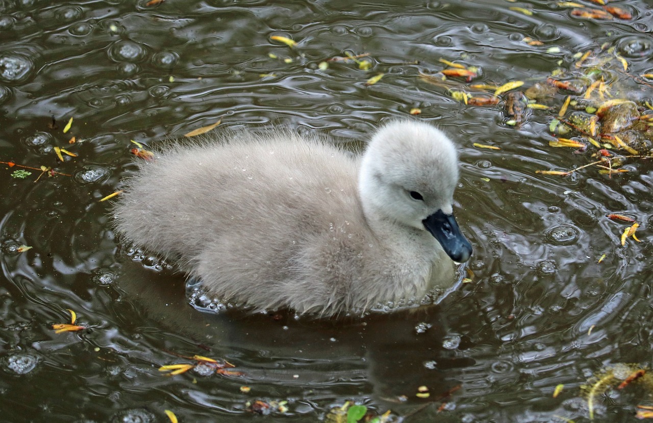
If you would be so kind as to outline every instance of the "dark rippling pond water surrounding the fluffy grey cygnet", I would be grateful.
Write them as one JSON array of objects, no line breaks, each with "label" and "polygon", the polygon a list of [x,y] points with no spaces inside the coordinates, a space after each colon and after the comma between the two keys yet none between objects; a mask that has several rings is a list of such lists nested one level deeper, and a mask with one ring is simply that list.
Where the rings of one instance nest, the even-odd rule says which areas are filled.
[{"label": "dark rippling pond water surrounding the fluffy grey cygnet", "polygon": [[[334,407],[358,404],[383,421],[625,422],[653,405],[646,377],[617,388],[651,361],[653,166],[601,173],[631,153],[595,137],[614,142],[603,156],[583,134],[594,124],[564,124],[583,97],[650,113],[650,2],[609,3],[631,14],[614,17],[555,1],[57,3],[0,1],[1,421],[339,421]],[[329,60],[347,54],[368,55]],[[470,101],[509,81],[524,84],[498,104]],[[549,109],[518,94],[537,83],[559,86],[540,86]],[[131,140],[150,148],[222,119],[214,131],[287,125],[358,149],[412,109],[456,141],[456,215],[475,248],[471,281],[434,306],[201,313],[183,275],[121,242],[99,202],[134,169]],[[620,136],[646,154],[638,122]],[[588,147],[552,147],[551,131]],[[37,181],[40,166],[58,173]],[[641,242],[622,245],[633,223],[611,213],[635,219]],[[56,333],[69,310],[86,329]],[[239,373],[159,371],[196,354]]]}]

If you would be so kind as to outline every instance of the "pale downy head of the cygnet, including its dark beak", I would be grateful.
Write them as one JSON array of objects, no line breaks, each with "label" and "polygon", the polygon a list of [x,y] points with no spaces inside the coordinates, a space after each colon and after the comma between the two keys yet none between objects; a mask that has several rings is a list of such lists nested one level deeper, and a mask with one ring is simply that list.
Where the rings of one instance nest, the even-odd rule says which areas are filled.
[{"label": "pale downy head of the cygnet, including its dark beak", "polygon": [[390,219],[430,232],[456,262],[471,244],[453,217],[458,154],[439,129],[394,121],[374,135],[360,164],[359,190],[368,218]]}]

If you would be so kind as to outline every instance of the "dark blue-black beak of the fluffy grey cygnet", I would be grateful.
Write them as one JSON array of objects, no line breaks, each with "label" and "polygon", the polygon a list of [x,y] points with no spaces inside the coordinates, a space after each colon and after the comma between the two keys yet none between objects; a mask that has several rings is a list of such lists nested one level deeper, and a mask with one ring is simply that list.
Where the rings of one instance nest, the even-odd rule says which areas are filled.
[{"label": "dark blue-black beak of the fluffy grey cygnet", "polygon": [[471,243],[460,232],[453,214],[446,215],[442,210],[433,213],[422,221],[428,232],[438,240],[451,260],[464,263],[471,257]]}]

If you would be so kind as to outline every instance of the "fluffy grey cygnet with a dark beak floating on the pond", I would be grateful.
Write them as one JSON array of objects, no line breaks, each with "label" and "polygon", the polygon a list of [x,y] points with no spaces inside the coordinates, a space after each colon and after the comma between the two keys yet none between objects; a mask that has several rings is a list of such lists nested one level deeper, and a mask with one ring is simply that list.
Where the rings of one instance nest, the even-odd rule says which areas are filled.
[{"label": "fluffy grey cygnet with a dark beak floating on the pond", "polygon": [[453,285],[471,244],[453,217],[458,156],[394,121],[362,157],[288,131],[229,133],[142,161],[118,231],[178,259],[213,296],[330,316]]}]

